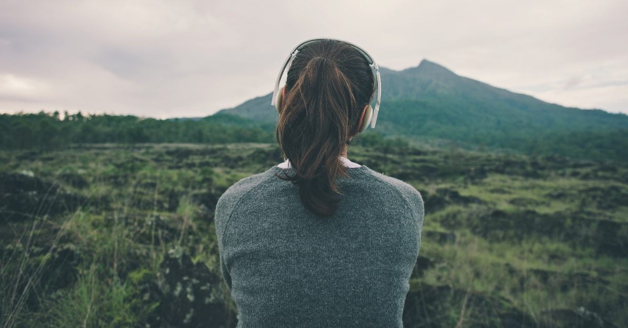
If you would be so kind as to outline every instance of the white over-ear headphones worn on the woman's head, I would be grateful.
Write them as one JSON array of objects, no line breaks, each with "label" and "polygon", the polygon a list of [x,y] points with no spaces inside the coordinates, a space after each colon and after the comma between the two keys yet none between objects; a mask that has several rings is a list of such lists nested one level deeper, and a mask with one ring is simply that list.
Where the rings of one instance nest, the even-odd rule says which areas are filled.
[{"label": "white over-ear headphones worn on the woman's head", "polygon": [[279,82],[281,82],[281,77],[283,77],[283,73],[286,70],[290,69],[290,65],[292,65],[292,61],[295,60],[296,54],[299,51],[301,51],[301,49],[303,49],[303,47],[305,47],[309,43],[312,43],[314,41],[320,41],[320,40],[340,41],[340,42],[347,43],[350,46],[353,46],[357,51],[360,51],[362,56],[364,56],[365,60],[369,63],[369,66],[371,66],[371,68],[373,70],[374,79],[375,79],[376,84],[377,84],[377,101],[375,102],[375,109],[373,109],[371,107],[371,104],[369,103],[369,105],[367,105],[367,107],[366,107],[366,110],[362,113],[362,115],[364,115],[364,117],[362,118],[362,124],[358,128],[358,132],[363,132],[364,130],[366,130],[366,127],[369,126],[369,123],[371,124],[371,127],[373,129],[375,129],[375,122],[377,121],[377,113],[379,113],[379,103],[380,103],[381,98],[382,98],[381,78],[379,77],[379,66],[377,66],[377,63],[375,62],[375,60],[373,60],[371,55],[369,55],[369,53],[367,53],[364,49],[360,48],[359,46],[354,45],[353,43],[350,43],[350,42],[347,42],[347,41],[343,41],[343,40],[330,39],[330,38],[316,38],[316,39],[310,39],[310,40],[303,41],[298,46],[296,46],[291,51],[290,56],[288,56],[288,58],[286,58],[286,61],[284,61],[283,66],[281,68],[281,71],[279,71],[279,75],[277,77],[277,81],[275,82],[275,88],[274,88],[274,91],[273,91],[273,98],[271,100],[271,105],[276,107],[277,111],[281,113],[281,101],[283,100],[282,99],[283,98],[283,88],[285,88],[285,87],[282,87],[281,90],[279,90]]}]

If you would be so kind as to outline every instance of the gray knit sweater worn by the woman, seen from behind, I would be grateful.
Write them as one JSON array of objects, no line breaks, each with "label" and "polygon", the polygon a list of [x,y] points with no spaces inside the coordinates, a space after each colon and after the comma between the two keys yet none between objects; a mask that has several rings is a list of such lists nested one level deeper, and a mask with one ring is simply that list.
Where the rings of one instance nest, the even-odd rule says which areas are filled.
[{"label": "gray knit sweater worn by the woman, seen from behind", "polygon": [[273,166],[225,191],[215,211],[237,327],[402,327],[424,206],[412,186],[347,168],[338,211],[322,218]]}]

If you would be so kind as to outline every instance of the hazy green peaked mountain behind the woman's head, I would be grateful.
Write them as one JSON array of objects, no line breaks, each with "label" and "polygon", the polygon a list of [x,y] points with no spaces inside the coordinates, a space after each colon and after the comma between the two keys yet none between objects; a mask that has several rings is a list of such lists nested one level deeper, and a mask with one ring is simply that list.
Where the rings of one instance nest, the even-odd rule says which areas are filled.
[{"label": "hazy green peaked mountain behind the woman's head", "polygon": [[[529,154],[627,159],[628,116],[547,103],[461,77],[428,60],[402,71],[380,68],[382,103],[376,132]],[[271,94],[214,115],[276,124]],[[370,130],[369,130],[370,131]]]}]

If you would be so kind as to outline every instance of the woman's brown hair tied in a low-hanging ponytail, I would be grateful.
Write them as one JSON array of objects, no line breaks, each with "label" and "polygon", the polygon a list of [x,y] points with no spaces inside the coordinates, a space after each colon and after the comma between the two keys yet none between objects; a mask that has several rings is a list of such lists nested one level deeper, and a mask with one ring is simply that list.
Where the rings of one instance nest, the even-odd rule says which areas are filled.
[{"label": "woman's brown hair tied in a low-hanging ponytail", "polygon": [[295,175],[276,176],[299,187],[305,208],[331,216],[342,195],[336,179],[349,176],[339,157],[374,93],[371,66],[348,43],[315,41],[295,56],[285,90],[276,138]]}]

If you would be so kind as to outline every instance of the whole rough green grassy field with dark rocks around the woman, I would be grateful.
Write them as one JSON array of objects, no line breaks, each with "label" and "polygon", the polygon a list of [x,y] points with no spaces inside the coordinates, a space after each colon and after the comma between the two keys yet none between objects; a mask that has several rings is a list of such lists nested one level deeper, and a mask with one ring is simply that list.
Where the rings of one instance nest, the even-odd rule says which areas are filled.
[{"label": "whole rough green grassy field with dark rocks around the woman", "polygon": [[[352,146],[425,200],[406,327],[628,326],[628,165]],[[268,144],[0,152],[0,327],[235,327],[214,206]]]}]

